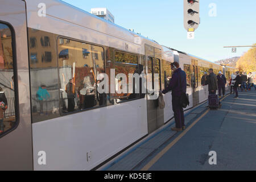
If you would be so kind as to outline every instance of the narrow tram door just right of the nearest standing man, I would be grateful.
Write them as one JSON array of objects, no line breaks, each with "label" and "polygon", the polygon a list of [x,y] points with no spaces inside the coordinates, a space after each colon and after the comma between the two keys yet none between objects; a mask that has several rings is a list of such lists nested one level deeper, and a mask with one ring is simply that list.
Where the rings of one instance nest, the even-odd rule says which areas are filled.
[{"label": "narrow tram door just right of the nearest standing man", "polygon": [[192,90],[193,90],[193,106],[196,106],[199,104],[199,81],[201,80],[199,78],[199,67],[198,67],[198,61],[197,60],[191,60],[191,82],[192,82]]}]

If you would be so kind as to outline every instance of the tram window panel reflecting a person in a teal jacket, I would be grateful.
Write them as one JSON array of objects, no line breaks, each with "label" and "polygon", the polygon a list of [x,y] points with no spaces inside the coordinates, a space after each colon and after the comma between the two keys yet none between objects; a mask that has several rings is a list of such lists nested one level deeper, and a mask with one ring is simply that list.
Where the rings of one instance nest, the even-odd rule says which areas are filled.
[{"label": "tram window panel reflecting a person in a teal jacket", "polygon": [[57,35],[28,28],[28,40],[35,38],[44,46],[29,47],[32,122],[60,116],[57,69]]}]

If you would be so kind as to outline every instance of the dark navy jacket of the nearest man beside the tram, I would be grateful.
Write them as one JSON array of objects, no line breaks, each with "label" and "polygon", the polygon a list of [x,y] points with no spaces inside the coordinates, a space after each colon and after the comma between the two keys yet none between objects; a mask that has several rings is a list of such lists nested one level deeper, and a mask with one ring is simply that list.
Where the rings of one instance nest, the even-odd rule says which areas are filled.
[{"label": "dark navy jacket of the nearest man beside the tram", "polygon": [[187,93],[187,75],[181,68],[174,71],[174,75],[170,80],[170,84],[163,90],[163,94],[172,90],[172,96],[181,96],[182,93]]}]

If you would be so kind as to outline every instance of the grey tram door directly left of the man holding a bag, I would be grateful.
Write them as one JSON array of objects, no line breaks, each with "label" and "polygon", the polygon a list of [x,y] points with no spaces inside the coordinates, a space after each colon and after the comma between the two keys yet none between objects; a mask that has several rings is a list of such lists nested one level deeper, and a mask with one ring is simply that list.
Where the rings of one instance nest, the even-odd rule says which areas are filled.
[{"label": "grey tram door directly left of the man holding a bag", "polygon": [[[148,134],[164,125],[163,109],[158,106],[158,90],[161,90],[161,51],[145,45],[147,73],[147,122]],[[158,77],[155,77],[158,74]],[[155,92],[153,91],[155,90]]]}]

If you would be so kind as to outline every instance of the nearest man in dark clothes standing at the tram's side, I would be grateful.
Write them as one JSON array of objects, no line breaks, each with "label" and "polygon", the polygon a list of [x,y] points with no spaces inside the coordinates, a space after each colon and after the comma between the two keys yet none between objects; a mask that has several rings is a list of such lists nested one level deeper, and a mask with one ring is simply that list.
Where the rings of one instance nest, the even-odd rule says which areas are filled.
[{"label": "nearest man in dark clothes standing at the tram's side", "polygon": [[187,92],[187,76],[181,70],[179,63],[174,62],[171,64],[171,69],[174,72],[170,80],[170,84],[166,89],[159,93],[167,93],[172,90],[172,110],[174,111],[174,118],[176,127],[172,128],[173,131],[185,130],[185,119],[183,107],[180,105],[180,97],[182,93]]}]

